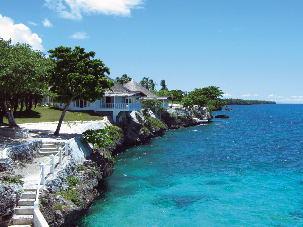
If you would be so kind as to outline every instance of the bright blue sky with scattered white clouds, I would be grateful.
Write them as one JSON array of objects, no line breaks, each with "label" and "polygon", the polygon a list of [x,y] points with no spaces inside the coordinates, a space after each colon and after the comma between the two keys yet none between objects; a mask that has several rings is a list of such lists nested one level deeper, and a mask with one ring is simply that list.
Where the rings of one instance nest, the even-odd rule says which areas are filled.
[{"label": "bright blue sky with scattered white clouds", "polygon": [[94,51],[110,68],[169,90],[303,103],[303,1],[29,0],[0,7],[0,37],[48,54]]}]

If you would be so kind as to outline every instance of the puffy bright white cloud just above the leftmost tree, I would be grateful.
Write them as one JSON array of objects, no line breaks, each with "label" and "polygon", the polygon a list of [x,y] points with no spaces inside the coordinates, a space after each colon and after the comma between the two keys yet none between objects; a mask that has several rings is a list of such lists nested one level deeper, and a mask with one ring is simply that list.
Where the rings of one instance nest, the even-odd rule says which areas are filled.
[{"label": "puffy bright white cloud just above the leftmost tree", "polygon": [[24,24],[14,24],[14,20],[9,17],[3,17],[0,14],[0,37],[5,40],[12,39],[12,44],[17,42],[27,43],[33,49],[44,50],[41,45],[42,39],[35,33],[32,33],[29,27]]}]

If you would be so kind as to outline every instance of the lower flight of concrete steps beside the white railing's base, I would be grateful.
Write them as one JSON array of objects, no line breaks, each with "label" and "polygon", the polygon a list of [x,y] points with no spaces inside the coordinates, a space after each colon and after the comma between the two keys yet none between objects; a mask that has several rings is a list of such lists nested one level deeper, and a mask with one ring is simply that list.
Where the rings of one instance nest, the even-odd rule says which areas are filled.
[{"label": "lower flight of concrete steps beside the white railing's base", "polygon": [[37,189],[26,188],[15,208],[12,226],[33,227],[34,226],[34,201]]}]

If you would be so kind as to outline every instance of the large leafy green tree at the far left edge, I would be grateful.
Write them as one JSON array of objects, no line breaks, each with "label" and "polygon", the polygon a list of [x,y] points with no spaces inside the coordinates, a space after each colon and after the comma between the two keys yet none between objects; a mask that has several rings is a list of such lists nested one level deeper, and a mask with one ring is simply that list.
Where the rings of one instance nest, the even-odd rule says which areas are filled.
[{"label": "large leafy green tree at the far left edge", "polygon": [[32,50],[28,44],[11,45],[11,40],[0,38],[0,102],[9,128],[20,128],[14,119],[18,99],[45,92],[51,69],[52,63],[44,53]]}]

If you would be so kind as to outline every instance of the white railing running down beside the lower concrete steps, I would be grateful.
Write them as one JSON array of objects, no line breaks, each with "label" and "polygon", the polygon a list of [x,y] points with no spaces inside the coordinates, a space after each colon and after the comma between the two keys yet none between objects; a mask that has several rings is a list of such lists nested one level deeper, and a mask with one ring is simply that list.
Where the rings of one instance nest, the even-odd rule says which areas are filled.
[{"label": "white railing running down beside the lower concrete steps", "polygon": [[[64,155],[68,156],[68,143],[65,142],[64,147],[58,148],[58,152],[55,154],[55,156],[52,154],[49,161],[47,161],[45,164],[40,164],[40,174],[37,186],[36,201],[34,202],[34,227],[49,227],[45,218],[39,210],[39,192],[45,187],[45,173],[47,173],[47,171],[49,170],[50,174],[54,174],[56,162],[62,163],[63,149]],[[46,168],[46,165],[49,165],[49,167]]]}]

